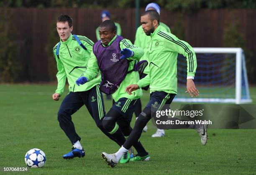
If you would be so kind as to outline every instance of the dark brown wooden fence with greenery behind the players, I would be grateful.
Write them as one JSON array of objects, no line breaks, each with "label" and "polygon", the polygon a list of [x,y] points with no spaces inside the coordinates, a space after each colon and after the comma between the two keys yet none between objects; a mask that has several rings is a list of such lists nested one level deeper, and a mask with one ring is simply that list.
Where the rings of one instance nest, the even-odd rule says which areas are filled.
[{"label": "dark brown wooden fence with greenery behind the players", "polygon": [[[160,20],[193,47],[242,47],[248,80],[256,84],[255,0],[140,0],[140,13],[150,2],[161,6]],[[0,82],[56,80],[52,48],[59,41],[56,17],[74,19],[74,34],[96,41],[100,13],[110,11],[122,35],[136,32],[135,0],[3,0],[0,2]]]}]

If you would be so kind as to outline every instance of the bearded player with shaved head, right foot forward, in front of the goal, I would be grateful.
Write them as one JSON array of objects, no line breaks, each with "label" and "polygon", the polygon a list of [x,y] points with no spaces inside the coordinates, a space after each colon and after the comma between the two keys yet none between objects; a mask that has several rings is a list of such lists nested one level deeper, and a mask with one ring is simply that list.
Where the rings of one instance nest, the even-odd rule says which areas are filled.
[{"label": "bearded player with shaved head, right foot forward, in front of the goal", "polygon": [[[159,25],[159,14],[155,10],[148,10],[141,15],[141,24],[146,35],[151,36],[152,42],[146,47],[146,56],[149,61],[149,73],[136,84],[126,87],[126,92],[132,94],[134,90],[150,85],[150,100],[143,109],[135,126],[115,154],[102,153],[103,159],[114,167],[133,143],[138,142],[143,128],[163,105],[170,105],[177,95],[177,55],[182,54],[187,58],[187,92],[191,97],[198,96],[199,91],[193,82],[197,68],[196,55],[193,48],[185,41],[179,40],[175,35],[162,31]],[[153,115],[151,116],[151,112]],[[170,120],[179,120],[170,118]],[[174,123],[176,123],[174,121]],[[207,125],[174,125],[173,129],[194,128],[200,135],[201,143],[207,143]],[[136,158],[137,156],[135,156]],[[142,160],[142,158],[137,158]]]}]

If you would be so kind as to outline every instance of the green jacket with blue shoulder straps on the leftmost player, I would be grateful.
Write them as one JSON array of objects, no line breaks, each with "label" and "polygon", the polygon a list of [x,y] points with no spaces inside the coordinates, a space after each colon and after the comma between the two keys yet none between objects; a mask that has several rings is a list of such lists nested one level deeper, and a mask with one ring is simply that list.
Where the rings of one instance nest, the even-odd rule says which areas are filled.
[{"label": "green jacket with blue shoulder straps on the leftmost player", "polygon": [[87,48],[84,50],[71,34],[67,41],[61,42],[59,47],[59,57],[56,55],[57,45],[53,48],[53,54],[55,60],[57,62],[57,80],[58,80],[58,87],[56,89],[56,93],[60,95],[63,94],[64,87],[66,84],[66,78],[69,82],[69,91],[72,92],[82,92],[86,90],[90,90],[97,84],[101,82],[101,76],[98,75],[92,81],[86,83],[83,86],[78,86],[76,84],[77,78],[81,76],[81,74],[87,68],[87,62],[90,59],[90,54],[92,52],[93,42],[89,40],[87,37],[77,35],[79,40],[83,43],[83,45]]}]

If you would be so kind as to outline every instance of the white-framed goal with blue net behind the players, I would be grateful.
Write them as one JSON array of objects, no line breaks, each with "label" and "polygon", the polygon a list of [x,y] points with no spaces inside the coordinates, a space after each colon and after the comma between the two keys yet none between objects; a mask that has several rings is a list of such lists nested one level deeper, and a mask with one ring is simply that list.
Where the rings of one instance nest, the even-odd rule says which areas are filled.
[{"label": "white-framed goal with blue net behind the players", "polygon": [[195,85],[198,97],[186,91],[187,60],[177,59],[178,95],[176,102],[249,103],[252,102],[246,72],[246,62],[241,48],[195,47],[197,70]]}]

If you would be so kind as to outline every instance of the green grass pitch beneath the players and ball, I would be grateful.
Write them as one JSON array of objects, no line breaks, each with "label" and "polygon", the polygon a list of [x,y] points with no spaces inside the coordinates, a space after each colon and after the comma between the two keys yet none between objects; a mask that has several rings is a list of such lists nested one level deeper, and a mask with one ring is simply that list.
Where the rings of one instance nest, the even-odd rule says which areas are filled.
[{"label": "green grass pitch beneath the players and ball", "polygon": [[[25,153],[39,148],[46,153],[46,164],[29,169],[28,174],[256,173],[256,130],[208,130],[208,143],[202,146],[195,130],[166,130],[164,138],[151,138],[156,131],[151,122],[148,132],[140,138],[151,160],[110,168],[100,154],[114,153],[119,147],[100,132],[85,107],[72,118],[86,155],[64,160],[61,156],[72,145],[57,121],[65,95],[60,101],[52,100],[55,88],[56,85],[0,85],[0,167],[26,167]],[[250,93],[256,104],[256,87],[251,87]],[[145,92],[143,106],[148,98],[149,93]],[[111,101],[105,100],[106,111],[110,106]],[[135,117],[132,126],[134,120]]]}]

